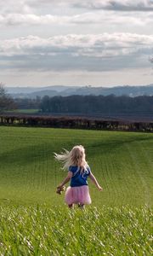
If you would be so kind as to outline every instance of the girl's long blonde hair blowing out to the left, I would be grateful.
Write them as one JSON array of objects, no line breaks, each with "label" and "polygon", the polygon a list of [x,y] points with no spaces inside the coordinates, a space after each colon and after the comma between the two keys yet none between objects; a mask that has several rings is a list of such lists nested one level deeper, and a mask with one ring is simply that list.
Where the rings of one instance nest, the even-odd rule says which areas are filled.
[{"label": "girl's long blonde hair blowing out to the left", "polygon": [[68,151],[64,149],[65,152],[61,154],[54,153],[54,158],[59,160],[63,164],[63,169],[69,169],[70,166],[78,166],[83,170],[88,169],[88,162],[86,161],[85,149],[82,145],[77,145]]}]

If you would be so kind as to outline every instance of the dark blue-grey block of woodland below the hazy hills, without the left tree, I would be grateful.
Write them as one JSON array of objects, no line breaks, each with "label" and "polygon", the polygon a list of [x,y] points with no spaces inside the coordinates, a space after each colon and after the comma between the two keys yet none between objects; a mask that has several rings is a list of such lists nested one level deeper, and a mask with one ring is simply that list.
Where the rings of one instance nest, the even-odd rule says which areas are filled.
[{"label": "dark blue-grey block of woodland below the hazy hills, without the left tree", "polygon": [[42,113],[153,113],[153,96],[44,96]]}]

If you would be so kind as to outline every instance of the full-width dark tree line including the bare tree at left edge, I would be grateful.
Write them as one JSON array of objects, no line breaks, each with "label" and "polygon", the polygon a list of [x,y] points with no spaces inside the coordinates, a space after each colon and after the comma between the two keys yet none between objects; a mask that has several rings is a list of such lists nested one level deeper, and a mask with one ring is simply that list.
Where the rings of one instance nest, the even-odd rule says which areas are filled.
[{"label": "full-width dark tree line including the bare tree at left edge", "polygon": [[39,109],[43,113],[62,113],[64,115],[116,115],[153,114],[153,96],[43,96],[28,99],[12,99],[0,83],[0,112],[9,109]]}]

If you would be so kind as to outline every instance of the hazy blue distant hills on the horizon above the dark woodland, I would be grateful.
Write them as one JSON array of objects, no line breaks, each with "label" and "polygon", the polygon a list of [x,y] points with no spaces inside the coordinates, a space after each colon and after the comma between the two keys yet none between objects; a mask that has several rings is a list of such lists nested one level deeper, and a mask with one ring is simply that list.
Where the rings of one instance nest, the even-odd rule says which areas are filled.
[{"label": "hazy blue distant hills on the horizon above the dark woodland", "polygon": [[46,87],[7,87],[8,94],[14,98],[36,98],[37,96],[71,96],[71,95],[116,95],[116,96],[153,96],[153,84],[142,86],[65,86],[53,85]]}]

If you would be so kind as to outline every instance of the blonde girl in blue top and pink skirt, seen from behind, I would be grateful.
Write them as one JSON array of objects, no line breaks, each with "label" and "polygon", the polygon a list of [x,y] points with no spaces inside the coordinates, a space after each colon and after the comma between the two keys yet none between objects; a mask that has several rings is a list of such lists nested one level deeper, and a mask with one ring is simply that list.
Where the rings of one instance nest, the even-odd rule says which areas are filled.
[{"label": "blonde girl in blue top and pink skirt, seen from behind", "polygon": [[65,150],[63,154],[55,154],[55,159],[63,163],[63,169],[68,169],[68,174],[62,183],[57,187],[57,193],[64,190],[65,183],[71,180],[71,185],[65,191],[65,202],[71,208],[73,204],[78,204],[78,207],[84,207],[85,204],[91,204],[91,198],[88,190],[88,177],[91,178],[93,183],[99,189],[98,181],[86,161],[85,150],[80,146],[75,146],[71,151]]}]

